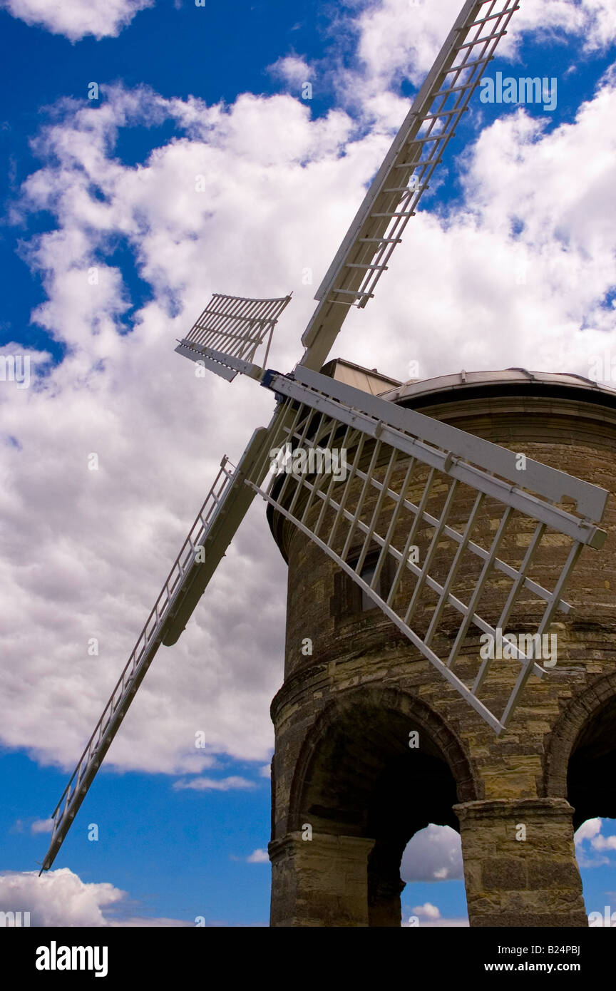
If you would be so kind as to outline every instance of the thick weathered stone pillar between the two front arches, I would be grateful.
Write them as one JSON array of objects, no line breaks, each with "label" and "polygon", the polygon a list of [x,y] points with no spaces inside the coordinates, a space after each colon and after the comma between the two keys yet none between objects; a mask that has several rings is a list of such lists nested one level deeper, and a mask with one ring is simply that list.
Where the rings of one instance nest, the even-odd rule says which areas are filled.
[{"label": "thick weathered stone pillar between the two front arches", "polygon": [[454,812],[471,926],[588,925],[565,799],[465,802]]}]

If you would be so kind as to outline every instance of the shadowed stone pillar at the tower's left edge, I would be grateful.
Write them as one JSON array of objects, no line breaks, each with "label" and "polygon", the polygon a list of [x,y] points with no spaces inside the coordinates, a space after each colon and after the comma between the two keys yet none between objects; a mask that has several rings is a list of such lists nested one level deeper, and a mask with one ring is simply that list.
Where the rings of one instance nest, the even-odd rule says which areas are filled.
[{"label": "shadowed stone pillar at the tower's left edge", "polygon": [[290,832],[268,846],[272,927],[368,925],[367,857],[373,839]]}]

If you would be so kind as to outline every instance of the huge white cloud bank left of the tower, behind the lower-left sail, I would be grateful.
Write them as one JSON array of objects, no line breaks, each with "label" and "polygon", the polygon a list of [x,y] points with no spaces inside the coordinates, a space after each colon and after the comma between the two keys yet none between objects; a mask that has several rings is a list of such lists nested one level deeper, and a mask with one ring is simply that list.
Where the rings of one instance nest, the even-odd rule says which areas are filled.
[{"label": "huge white cloud bank left of the tower, behind the lower-left sail", "polygon": [[[30,619],[5,633],[2,684],[11,715],[4,742],[68,768],[221,455],[237,461],[271,415],[272,397],[253,383],[196,379],[194,366],[173,354],[175,337],[214,290],[283,294],[305,266],[318,272],[323,226],[314,223],[312,203],[323,190],[332,203],[344,200],[350,187],[357,199],[375,155],[363,143],[347,144],[345,114],[313,123],[287,96],[245,95],[225,109],[115,89],[95,114],[70,103],[64,109],[39,141],[46,164],[29,179],[25,198],[56,218],[29,257],[46,273],[48,301],[37,318],[68,353],[38,388],[0,389],[3,430],[22,446],[0,449],[8,522],[0,582],[5,614]],[[109,157],[118,127],[162,112],[193,137],[155,150],[136,168]],[[265,133],[284,137],[275,153]],[[348,154],[339,161],[342,148]],[[48,155],[57,165],[47,164]],[[206,193],[195,190],[197,174],[207,175]],[[340,229],[344,209],[332,210],[328,223]],[[154,291],[124,335],[117,324],[126,306],[122,273],[99,258],[118,237]],[[94,265],[96,285],[88,280]],[[279,367],[299,356],[297,327],[312,309],[312,291],[296,292],[292,322],[281,324],[272,355]],[[181,316],[169,316],[170,298],[181,300]],[[98,471],[88,471],[91,453]],[[269,702],[281,681],[284,581],[256,504],[181,640],[159,650],[111,763],[198,774],[221,752],[262,764],[271,753]],[[91,638],[98,656],[88,655]],[[207,746],[197,749],[201,729]]]}]

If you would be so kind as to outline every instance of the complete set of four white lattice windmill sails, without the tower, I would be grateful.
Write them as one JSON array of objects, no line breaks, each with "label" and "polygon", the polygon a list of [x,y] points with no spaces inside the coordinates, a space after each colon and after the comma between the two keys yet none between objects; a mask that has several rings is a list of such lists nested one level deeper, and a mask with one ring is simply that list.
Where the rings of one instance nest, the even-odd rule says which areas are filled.
[{"label": "complete set of four white lattice windmill sails, without the tower", "polygon": [[[179,638],[256,495],[329,555],[496,734],[506,728],[529,677],[548,674],[532,647],[514,646],[517,677],[502,712],[493,712],[480,698],[492,659],[477,658],[470,679],[466,668],[456,670],[456,663],[477,630],[495,638],[498,630],[514,625],[522,599],[525,608],[529,601],[534,604],[534,614],[539,610],[539,636],[559,610],[569,610],[563,595],[579,554],[585,546],[600,548],[605,539],[599,523],[607,493],[531,459],[520,471],[514,452],[320,371],[351,307],[363,308],[374,295],[517,9],[516,0],[463,4],[316,293],[318,305],[301,339],[304,354],[291,373],[266,368],[271,335],[290,296],[215,294],[178,342],[178,354],[227,381],[241,374],[273,392],[275,410],[268,426],[254,432],[237,466],[227,458],[221,462],[52,814],[42,871],[51,868],[158,647]],[[256,363],[259,352],[261,364]],[[275,457],[279,451],[286,452],[283,466]],[[315,453],[340,467],[341,451],[349,455],[344,472],[316,470]],[[435,515],[429,500],[439,487],[443,497]],[[472,496],[466,499],[463,524],[460,512],[455,519],[453,513],[462,493]],[[487,507],[496,521],[486,542],[478,538],[476,526]],[[521,525],[528,535],[523,553],[512,539]],[[422,533],[429,536],[417,560],[412,551]],[[546,588],[533,575],[555,534],[565,552]],[[443,538],[455,547],[445,571],[442,562],[437,566]],[[351,558],[358,541],[359,556]],[[366,572],[368,550],[374,564]],[[390,581],[381,583],[385,566]],[[461,598],[456,581],[462,571],[473,578],[470,586],[466,578]],[[508,594],[496,621],[490,621],[482,597],[495,575],[504,577]],[[436,597],[436,606],[427,628],[421,628],[415,617],[428,594]],[[446,612],[456,615],[458,626],[449,653],[440,656],[435,638]]]}]

